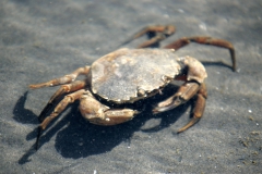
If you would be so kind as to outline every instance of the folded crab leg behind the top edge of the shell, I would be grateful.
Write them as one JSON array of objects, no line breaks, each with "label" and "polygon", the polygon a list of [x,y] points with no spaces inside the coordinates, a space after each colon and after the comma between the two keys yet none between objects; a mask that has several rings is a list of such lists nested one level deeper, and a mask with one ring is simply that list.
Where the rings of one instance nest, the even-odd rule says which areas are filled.
[{"label": "folded crab leg behind the top edge of the shell", "polygon": [[134,34],[130,39],[124,41],[122,45],[127,45],[130,41],[147,34],[148,36],[152,35],[153,37],[141,44],[138,48],[146,48],[151,47],[154,44],[157,44],[167,37],[171,36],[176,32],[176,27],[174,25],[153,25],[153,26],[147,26]]}]

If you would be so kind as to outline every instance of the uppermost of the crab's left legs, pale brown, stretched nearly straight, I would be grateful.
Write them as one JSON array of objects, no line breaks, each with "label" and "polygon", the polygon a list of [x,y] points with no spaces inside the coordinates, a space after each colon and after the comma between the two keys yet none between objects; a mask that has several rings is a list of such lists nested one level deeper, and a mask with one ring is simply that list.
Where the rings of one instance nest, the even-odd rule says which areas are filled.
[{"label": "uppermost of the crab's left legs, pale brown, stretched nearly straight", "polygon": [[55,78],[55,79],[51,79],[49,82],[41,83],[41,84],[29,85],[29,88],[37,89],[37,88],[43,88],[43,87],[51,87],[51,86],[57,86],[57,85],[70,84],[70,83],[74,82],[74,79],[79,75],[87,75],[88,72],[90,72],[90,66],[80,67],[80,69],[75,70],[73,73],[64,75],[60,78]]}]

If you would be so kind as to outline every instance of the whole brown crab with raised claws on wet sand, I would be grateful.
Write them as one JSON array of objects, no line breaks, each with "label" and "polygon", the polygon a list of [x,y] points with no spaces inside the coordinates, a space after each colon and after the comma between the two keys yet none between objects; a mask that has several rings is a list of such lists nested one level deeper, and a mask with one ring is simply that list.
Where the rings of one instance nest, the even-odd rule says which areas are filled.
[{"label": "whole brown crab with raised claws on wet sand", "polygon": [[[80,101],[80,112],[84,119],[97,125],[116,125],[132,120],[141,111],[132,108],[121,108],[126,103],[134,103],[151,98],[174,80],[183,80],[178,91],[158,102],[153,113],[171,110],[194,97],[192,119],[181,133],[194,125],[203,115],[207,91],[204,79],[207,77],[203,64],[192,57],[178,58],[175,54],[179,48],[190,42],[211,45],[229,50],[233,71],[236,71],[234,46],[226,40],[205,36],[183,37],[162,49],[148,48],[171,36],[176,28],[172,25],[147,26],[133,35],[128,44],[145,34],[150,39],[136,49],[121,48],[110,52],[92,65],[83,66],[71,74],[46,83],[29,85],[29,88],[43,88],[61,85],[50,98],[40,115],[38,146],[40,132],[57,117],[70,103]],[[82,80],[75,80],[84,75]],[[108,104],[114,103],[114,104]],[[51,112],[48,116],[47,113]]]}]

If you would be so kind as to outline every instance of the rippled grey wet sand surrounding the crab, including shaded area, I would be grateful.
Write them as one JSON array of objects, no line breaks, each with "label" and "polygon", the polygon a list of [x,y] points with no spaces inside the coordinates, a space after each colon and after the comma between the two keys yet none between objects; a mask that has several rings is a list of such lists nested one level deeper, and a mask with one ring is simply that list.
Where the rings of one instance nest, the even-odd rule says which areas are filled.
[{"label": "rippled grey wet sand surrounding the crab, including shaded area", "polygon": [[[261,21],[260,0],[1,0],[0,173],[262,173]],[[150,24],[177,26],[163,45],[194,35],[234,44],[237,73],[225,49],[192,44],[177,52],[206,66],[203,119],[177,135],[188,103],[102,127],[85,122],[75,103],[34,151],[37,115],[57,87],[27,86],[91,64]]]}]

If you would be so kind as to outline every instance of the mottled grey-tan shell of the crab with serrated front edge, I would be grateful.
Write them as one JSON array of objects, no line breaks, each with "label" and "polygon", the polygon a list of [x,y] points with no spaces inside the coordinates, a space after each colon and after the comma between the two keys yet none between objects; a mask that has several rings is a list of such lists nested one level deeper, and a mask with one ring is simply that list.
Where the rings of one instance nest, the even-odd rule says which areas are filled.
[{"label": "mottled grey-tan shell of the crab with serrated front edge", "polygon": [[180,70],[174,50],[123,48],[95,61],[90,80],[93,94],[116,103],[131,103],[157,94]]}]

